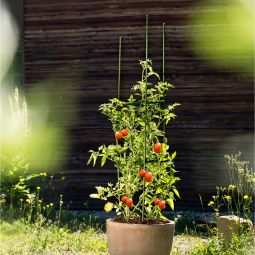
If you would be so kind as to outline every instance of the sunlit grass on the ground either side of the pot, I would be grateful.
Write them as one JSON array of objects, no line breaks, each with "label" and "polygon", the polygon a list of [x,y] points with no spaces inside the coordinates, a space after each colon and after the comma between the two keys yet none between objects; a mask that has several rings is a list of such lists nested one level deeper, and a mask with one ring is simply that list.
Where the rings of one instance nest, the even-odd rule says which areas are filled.
[{"label": "sunlit grass on the ground either side of the pot", "polygon": [[[104,226],[88,218],[59,228],[43,218],[34,224],[22,220],[0,221],[0,255],[104,255],[108,254]],[[250,237],[249,237],[250,238]],[[180,234],[174,237],[171,255],[250,255],[247,237],[236,240],[223,253],[217,237]]]}]

